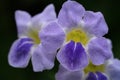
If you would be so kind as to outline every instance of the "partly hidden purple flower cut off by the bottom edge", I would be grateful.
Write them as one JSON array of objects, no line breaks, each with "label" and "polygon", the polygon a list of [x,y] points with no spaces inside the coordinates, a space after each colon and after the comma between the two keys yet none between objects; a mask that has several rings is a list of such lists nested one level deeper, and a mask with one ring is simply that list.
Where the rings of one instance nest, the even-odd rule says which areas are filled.
[{"label": "partly hidden purple flower cut off by the bottom edge", "polygon": [[[85,73],[84,70],[69,71],[60,65],[59,71],[56,73],[56,80],[119,80],[120,79],[120,60],[110,59],[102,66],[93,66],[91,63],[87,68],[95,71]],[[103,70],[100,70],[103,69]],[[89,69],[89,70],[90,70]],[[98,69],[98,71],[97,71]]]}]

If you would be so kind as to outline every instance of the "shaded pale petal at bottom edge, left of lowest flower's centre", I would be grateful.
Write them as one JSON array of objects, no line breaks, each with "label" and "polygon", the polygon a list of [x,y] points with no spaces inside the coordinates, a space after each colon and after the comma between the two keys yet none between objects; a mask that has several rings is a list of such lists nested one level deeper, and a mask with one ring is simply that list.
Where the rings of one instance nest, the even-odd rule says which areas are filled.
[{"label": "shaded pale petal at bottom edge, left of lowest flower's centre", "polygon": [[56,80],[83,80],[83,75],[84,73],[82,70],[69,71],[60,65],[55,78]]}]

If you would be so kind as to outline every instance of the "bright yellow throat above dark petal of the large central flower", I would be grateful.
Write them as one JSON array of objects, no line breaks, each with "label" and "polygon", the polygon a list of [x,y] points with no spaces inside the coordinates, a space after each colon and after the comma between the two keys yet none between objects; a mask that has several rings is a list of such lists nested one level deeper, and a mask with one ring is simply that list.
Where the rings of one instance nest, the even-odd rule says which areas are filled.
[{"label": "bright yellow throat above dark petal of the large central flower", "polygon": [[80,28],[72,29],[70,32],[66,35],[66,41],[73,40],[75,42],[80,42],[83,45],[86,45],[89,38],[87,34]]}]

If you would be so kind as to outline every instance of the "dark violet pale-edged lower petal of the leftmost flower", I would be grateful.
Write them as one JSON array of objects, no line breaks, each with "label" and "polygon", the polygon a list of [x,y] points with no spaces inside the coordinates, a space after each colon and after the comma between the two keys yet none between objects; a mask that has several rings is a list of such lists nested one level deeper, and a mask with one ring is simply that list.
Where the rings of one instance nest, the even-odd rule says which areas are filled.
[{"label": "dark violet pale-edged lower petal of the leftmost flower", "polygon": [[8,62],[13,67],[24,68],[30,60],[30,50],[33,43],[30,38],[16,40],[10,49]]}]

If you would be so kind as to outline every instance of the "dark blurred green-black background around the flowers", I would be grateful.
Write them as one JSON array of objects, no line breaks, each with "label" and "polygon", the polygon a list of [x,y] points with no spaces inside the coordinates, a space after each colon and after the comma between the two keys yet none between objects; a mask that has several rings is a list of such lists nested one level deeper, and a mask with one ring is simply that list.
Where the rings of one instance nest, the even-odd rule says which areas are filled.
[{"label": "dark blurred green-black background around the flowers", "polygon": [[[16,10],[25,10],[32,16],[40,13],[48,4],[55,5],[58,14],[66,0],[0,0],[0,80],[55,80],[58,65],[52,70],[33,72],[31,62],[25,69],[16,69],[8,64],[8,52],[14,40],[17,39],[17,29],[14,19]],[[105,37],[112,40],[113,52],[120,59],[120,3],[119,0],[76,0],[86,10],[101,11],[109,26]],[[55,61],[58,64],[57,61]]]}]

